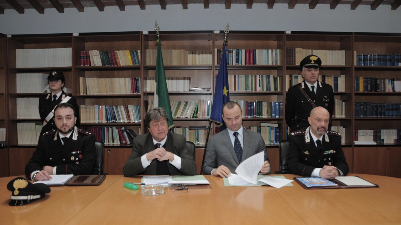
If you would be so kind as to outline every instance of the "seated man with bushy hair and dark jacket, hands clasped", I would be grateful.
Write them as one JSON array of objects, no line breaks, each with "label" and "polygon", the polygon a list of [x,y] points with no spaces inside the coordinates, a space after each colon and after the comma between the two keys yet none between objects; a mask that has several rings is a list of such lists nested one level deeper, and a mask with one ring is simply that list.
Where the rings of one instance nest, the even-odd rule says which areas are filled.
[{"label": "seated man with bushy hair and dark jacket, hands clasped", "polygon": [[182,135],[168,132],[164,108],[152,108],[145,115],[149,133],[134,139],[131,155],[123,168],[134,175],[195,175],[196,165]]}]

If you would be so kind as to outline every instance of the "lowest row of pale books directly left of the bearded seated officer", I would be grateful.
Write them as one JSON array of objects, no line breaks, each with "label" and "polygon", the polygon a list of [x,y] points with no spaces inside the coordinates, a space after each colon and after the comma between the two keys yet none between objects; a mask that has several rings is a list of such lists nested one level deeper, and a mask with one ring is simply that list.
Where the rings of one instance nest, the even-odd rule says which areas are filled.
[{"label": "lowest row of pale books directly left of the bearded seated officer", "polygon": [[18,145],[38,145],[41,123],[17,123]]}]

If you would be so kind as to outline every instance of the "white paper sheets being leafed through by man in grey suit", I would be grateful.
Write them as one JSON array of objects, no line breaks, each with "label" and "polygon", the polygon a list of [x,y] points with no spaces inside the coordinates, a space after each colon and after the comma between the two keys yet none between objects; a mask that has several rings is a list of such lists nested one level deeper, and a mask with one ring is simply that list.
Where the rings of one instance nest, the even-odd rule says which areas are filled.
[{"label": "white paper sheets being leafed through by man in grey suit", "polygon": [[[285,179],[284,176],[263,176],[258,175],[264,164],[264,152],[257,153],[248,159],[245,159],[235,173],[231,173],[228,178],[225,178],[225,186],[261,186],[270,185],[275,188],[280,188],[290,184],[293,180]],[[228,181],[228,182],[227,182]],[[292,186],[292,185],[291,185]]]}]

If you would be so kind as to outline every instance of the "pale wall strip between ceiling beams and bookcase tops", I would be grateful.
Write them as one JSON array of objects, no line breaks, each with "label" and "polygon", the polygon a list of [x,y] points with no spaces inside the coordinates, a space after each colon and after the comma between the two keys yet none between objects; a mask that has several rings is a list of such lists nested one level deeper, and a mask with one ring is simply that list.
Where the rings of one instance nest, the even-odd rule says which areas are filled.
[{"label": "pale wall strip between ceiling beams and bookcase tops", "polygon": [[401,32],[401,7],[391,10],[390,5],[381,5],[371,10],[369,5],[360,5],[350,10],[350,5],[339,4],[330,10],[328,4],[318,4],[314,10],[308,4],[297,4],[288,9],[288,4],[275,4],[267,9],[267,4],[253,4],[246,9],[245,4],[232,4],[225,9],[224,4],[126,6],[120,11],[117,6],[105,7],[99,12],[96,7],[65,8],[64,13],[55,9],[45,9],[39,14],[34,9],[18,14],[15,10],[4,10],[0,15],[0,32],[3,34],[45,34],[79,32],[117,32],[153,30],[155,19],[160,30],[223,30],[229,22],[230,30],[300,30],[338,32]]}]

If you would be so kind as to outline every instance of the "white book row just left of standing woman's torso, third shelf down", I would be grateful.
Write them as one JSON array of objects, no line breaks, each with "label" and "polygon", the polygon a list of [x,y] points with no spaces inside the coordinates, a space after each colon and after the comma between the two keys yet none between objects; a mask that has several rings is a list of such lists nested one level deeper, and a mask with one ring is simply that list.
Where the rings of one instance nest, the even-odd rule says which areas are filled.
[{"label": "white book row just left of standing woman's torso, third shelf down", "polygon": [[17,119],[41,119],[39,98],[17,98]]}]

